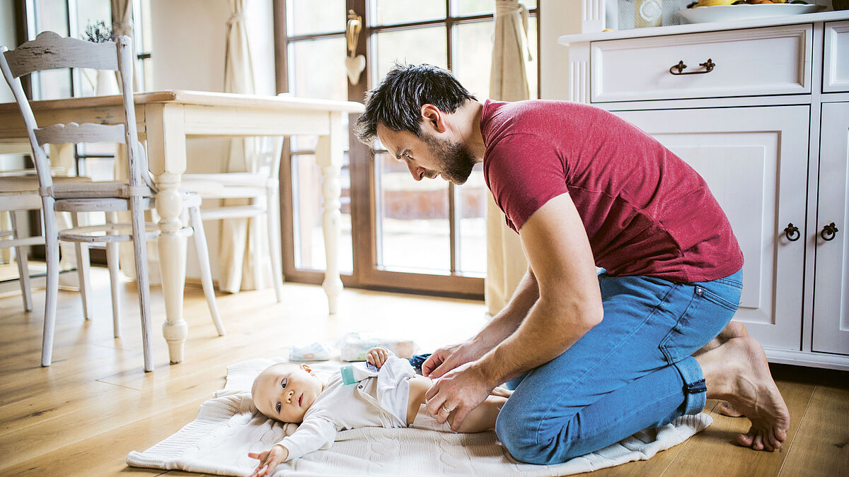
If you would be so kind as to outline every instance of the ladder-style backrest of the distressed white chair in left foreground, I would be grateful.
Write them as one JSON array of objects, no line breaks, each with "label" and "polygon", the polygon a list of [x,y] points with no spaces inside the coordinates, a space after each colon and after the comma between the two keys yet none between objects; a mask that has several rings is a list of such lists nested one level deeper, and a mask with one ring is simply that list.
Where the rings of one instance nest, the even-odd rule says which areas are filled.
[{"label": "ladder-style backrest of the distressed white chair in left foreground", "polygon": [[[3,76],[12,89],[20,114],[23,115],[32,154],[35,156],[38,183],[42,190],[49,190],[53,185],[50,164],[42,148],[42,145],[47,143],[126,143],[130,162],[129,184],[138,186],[145,183],[143,177],[147,175],[147,165],[137,147],[136,109],[132,100],[132,46],[129,36],[118,36],[116,42],[93,43],[59,36],[53,31],[43,31],[35,40],[25,42],[14,50],[0,47],[0,53],[0,69],[3,70]],[[112,125],[68,122],[39,127],[20,85],[20,76],[54,68],[93,68],[120,72],[124,122]]]}]

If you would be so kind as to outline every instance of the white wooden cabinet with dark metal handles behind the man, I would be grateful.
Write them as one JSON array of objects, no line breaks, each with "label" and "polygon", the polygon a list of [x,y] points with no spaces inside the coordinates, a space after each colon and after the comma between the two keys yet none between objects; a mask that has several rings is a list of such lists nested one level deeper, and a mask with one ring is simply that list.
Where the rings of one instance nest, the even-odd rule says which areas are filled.
[{"label": "white wooden cabinet with dark metal handles behind the man", "polygon": [[767,358],[849,370],[849,11],[558,41],[569,75],[543,73],[544,98],[610,110],[705,177],[745,259],[734,319]]}]

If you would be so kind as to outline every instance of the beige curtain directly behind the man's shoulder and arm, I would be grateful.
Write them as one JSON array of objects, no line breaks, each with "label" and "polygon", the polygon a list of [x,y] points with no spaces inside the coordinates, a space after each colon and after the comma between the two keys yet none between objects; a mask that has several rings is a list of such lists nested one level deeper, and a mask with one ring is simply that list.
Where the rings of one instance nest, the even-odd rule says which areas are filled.
[{"label": "beige curtain directly behind the man's shoulder and arm", "polygon": [[[526,64],[527,8],[517,0],[495,0],[489,97],[500,101],[528,99]],[[486,311],[494,316],[507,304],[527,271],[519,235],[507,227],[504,214],[488,194],[486,202]]]}]

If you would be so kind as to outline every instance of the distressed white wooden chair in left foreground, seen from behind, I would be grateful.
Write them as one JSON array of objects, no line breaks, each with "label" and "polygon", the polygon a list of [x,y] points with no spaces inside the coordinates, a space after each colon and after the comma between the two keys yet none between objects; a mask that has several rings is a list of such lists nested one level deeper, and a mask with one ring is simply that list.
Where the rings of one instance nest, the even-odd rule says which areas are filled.
[{"label": "distressed white wooden chair in left foreground, seen from behind", "polygon": [[[79,244],[105,243],[107,260],[112,276],[112,306],[114,311],[115,336],[120,334],[117,311],[119,297],[117,282],[117,242],[132,241],[136,260],[138,301],[141,311],[144,370],[154,368],[150,343],[150,289],[148,279],[147,250],[145,242],[159,235],[155,224],[144,222],[144,210],[155,207],[156,188],[150,180],[147,159],[136,131],[136,111],[132,99],[132,47],[128,36],[119,36],[116,42],[92,43],[64,38],[53,31],[40,33],[35,40],[25,42],[9,51],[0,47],[0,68],[9,87],[12,88],[21,115],[24,117],[32,152],[35,157],[38,177],[38,194],[44,210],[44,239],[48,262],[47,297],[44,311],[44,336],[42,341],[42,366],[49,366],[53,352],[53,328],[56,321],[56,298],[58,294],[59,240]],[[20,85],[20,76],[38,70],[53,68],[93,68],[121,72],[123,86],[124,121],[121,124],[55,124],[39,127]],[[129,178],[126,182],[54,182],[50,174],[48,158],[42,149],[45,143],[125,143]],[[185,194],[183,205],[188,208],[194,228],[194,242],[198,251],[204,292],[210,306],[212,320],[218,334],[224,327],[216,309],[215,293],[209,268],[206,239],[200,221],[200,197]],[[57,230],[53,211],[68,211],[72,214],[92,211],[107,213],[109,223],[103,226],[72,227]],[[129,211],[131,223],[115,223],[115,212]],[[73,215],[72,215],[73,216]]]}]

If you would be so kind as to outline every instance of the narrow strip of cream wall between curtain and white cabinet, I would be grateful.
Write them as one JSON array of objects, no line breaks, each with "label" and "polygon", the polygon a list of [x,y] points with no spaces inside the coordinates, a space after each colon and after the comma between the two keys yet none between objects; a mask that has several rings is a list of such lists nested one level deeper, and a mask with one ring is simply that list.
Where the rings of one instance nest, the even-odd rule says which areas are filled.
[{"label": "narrow strip of cream wall between curtain and white cabinet", "polygon": [[540,97],[569,97],[569,50],[557,42],[581,32],[581,0],[538,0]]}]

